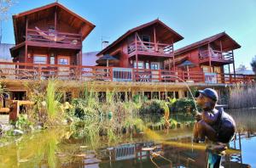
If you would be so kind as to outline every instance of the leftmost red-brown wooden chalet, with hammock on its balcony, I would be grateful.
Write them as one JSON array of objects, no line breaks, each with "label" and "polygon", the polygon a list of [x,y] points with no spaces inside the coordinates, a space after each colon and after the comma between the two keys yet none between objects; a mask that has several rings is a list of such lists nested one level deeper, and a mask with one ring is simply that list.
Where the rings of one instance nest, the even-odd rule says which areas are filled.
[{"label": "leftmost red-brown wooden chalet, with hammock on its balcony", "polygon": [[95,27],[60,3],[34,8],[13,16],[14,62],[82,64],[82,42]]}]

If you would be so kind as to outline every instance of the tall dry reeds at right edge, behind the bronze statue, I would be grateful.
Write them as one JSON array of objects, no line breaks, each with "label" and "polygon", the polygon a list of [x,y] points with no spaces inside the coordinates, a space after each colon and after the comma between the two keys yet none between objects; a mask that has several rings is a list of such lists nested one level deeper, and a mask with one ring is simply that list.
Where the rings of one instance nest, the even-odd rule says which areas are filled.
[{"label": "tall dry reeds at right edge, behind the bronze statue", "polygon": [[236,86],[230,88],[230,109],[256,107],[256,86]]}]

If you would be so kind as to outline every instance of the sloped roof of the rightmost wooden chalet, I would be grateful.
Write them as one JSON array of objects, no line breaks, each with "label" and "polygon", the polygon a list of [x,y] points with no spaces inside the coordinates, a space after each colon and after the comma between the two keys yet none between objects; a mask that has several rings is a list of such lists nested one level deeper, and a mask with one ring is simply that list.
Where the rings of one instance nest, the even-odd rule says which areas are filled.
[{"label": "sloped roof of the rightmost wooden chalet", "polygon": [[[228,39],[230,41],[230,48],[232,49],[237,49],[237,48],[241,48],[241,46],[233,39],[231,38],[227,33],[225,32],[221,32],[221,33],[218,33],[216,35],[213,35],[213,36],[209,36],[199,42],[195,42],[195,43],[192,43],[188,46],[185,46],[183,48],[179,48],[177,49],[176,51],[174,51],[174,54],[177,55],[177,54],[180,54],[180,53],[184,53],[184,52],[187,52],[191,49],[194,49],[194,48],[199,48],[201,46],[204,46],[206,45],[207,43],[210,43],[210,42],[214,42],[216,40],[218,40],[219,38],[222,38],[222,37],[225,37],[226,39]],[[227,48],[224,48],[224,49],[227,49]]]}]

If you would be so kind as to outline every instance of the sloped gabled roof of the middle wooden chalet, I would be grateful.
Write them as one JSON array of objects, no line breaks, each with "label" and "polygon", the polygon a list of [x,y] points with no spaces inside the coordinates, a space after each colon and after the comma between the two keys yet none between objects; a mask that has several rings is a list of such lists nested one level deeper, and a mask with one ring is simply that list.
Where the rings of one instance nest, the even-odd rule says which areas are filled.
[{"label": "sloped gabled roof of the middle wooden chalet", "polygon": [[154,24],[160,24],[160,25],[163,25],[164,27],[166,27],[166,29],[170,32],[172,32],[174,35],[175,35],[175,38],[173,40],[173,42],[178,42],[180,40],[183,39],[183,36],[179,35],[176,31],[173,31],[168,25],[164,24],[162,21],[160,21],[159,19],[156,19],[156,20],[153,20],[153,21],[150,21],[146,24],[143,24],[143,25],[139,25],[129,31],[126,31],[125,34],[123,34],[122,36],[119,36],[119,38],[117,40],[115,40],[114,42],[112,42],[110,45],[108,45],[107,48],[104,48],[102,49],[102,51],[100,53],[97,54],[97,56],[105,53],[106,51],[108,51],[109,48],[113,48],[116,44],[118,44],[119,42],[121,42],[123,39],[125,39],[125,37],[127,36],[130,36],[132,33],[136,32],[136,31],[139,31],[143,28],[146,28],[150,25],[154,25]]}]

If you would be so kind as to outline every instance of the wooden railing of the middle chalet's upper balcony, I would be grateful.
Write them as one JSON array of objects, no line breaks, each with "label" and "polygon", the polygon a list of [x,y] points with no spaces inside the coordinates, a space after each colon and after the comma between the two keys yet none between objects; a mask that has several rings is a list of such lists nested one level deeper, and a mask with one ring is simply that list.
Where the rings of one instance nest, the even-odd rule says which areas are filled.
[{"label": "wooden railing of the middle chalet's upper balcony", "polygon": [[158,53],[170,55],[173,53],[172,44],[154,43],[154,42],[131,42],[128,44],[128,53],[144,52],[144,53]]}]

